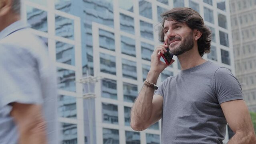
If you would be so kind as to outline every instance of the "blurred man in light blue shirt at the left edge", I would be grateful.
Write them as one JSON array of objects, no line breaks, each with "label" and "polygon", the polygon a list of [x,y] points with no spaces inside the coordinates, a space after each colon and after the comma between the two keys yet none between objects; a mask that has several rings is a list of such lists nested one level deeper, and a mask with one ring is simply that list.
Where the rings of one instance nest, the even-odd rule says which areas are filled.
[{"label": "blurred man in light blue shirt at the left edge", "polygon": [[0,0],[0,144],[58,144],[54,72],[20,0]]}]

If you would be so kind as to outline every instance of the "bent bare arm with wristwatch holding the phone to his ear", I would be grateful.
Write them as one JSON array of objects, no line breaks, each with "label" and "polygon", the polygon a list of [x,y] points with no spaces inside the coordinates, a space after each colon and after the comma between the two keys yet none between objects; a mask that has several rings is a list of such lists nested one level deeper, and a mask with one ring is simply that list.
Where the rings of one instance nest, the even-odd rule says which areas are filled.
[{"label": "bent bare arm with wristwatch holding the phone to his ear", "polygon": [[[167,52],[168,46],[158,46],[151,55],[151,66],[147,74],[147,81],[156,84],[160,73],[169,65],[160,60],[160,52]],[[171,60],[170,65],[174,62]],[[145,130],[157,122],[162,116],[163,97],[153,95],[154,89],[143,85],[131,109],[131,128],[136,131]]]}]

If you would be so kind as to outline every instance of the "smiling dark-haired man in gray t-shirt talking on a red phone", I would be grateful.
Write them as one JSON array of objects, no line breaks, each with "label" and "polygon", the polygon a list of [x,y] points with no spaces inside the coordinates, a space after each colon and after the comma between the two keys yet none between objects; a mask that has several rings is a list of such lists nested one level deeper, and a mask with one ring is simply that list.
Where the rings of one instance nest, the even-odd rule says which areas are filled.
[{"label": "smiling dark-haired man in gray t-shirt talking on a red phone", "polygon": [[[222,144],[228,123],[235,132],[228,144],[256,144],[238,80],[227,68],[202,58],[210,52],[211,32],[200,14],[173,8],[161,16],[164,44],[151,55],[147,81],[131,110],[133,130],[145,130],[162,118],[162,144]],[[160,61],[167,48],[179,59],[181,72],[157,89],[159,74],[170,65]]]}]

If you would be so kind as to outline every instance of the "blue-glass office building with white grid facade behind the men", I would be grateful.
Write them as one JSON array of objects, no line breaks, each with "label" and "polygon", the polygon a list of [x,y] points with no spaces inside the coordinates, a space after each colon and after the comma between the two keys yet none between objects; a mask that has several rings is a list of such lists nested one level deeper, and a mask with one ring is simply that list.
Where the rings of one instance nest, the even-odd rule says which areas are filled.
[{"label": "blue-glass office building with white grid facade behind the men", "polygon": [[[160,143],[161,121],[135,132],[130,110],[160,44],[159,15],[173,7],[201,14],[212,30],[204,58],[234,72],[228,1],[24,0],[22,16],[55,60],[63,144]],[[158,85],[180,71],[174,59]]]}]

